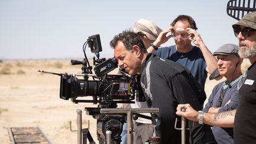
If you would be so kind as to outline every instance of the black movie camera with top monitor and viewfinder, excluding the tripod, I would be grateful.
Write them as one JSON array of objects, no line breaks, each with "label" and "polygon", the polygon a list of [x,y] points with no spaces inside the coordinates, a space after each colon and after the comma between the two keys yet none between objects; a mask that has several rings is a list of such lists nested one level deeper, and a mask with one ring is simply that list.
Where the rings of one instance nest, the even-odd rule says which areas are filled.
[{"label": "black movie camera with top monitor and viewfinder, excluding the tripod", "polygon": [[[137,89],[136,76],[108,75],[108,72],[117,68],[118,63],[116,57],[107,60],[100,59],[99,52],[102,51],[102,48],[99,34],[88,37],[85,43],[97,56],[97,58],[93,57],[95,74],[91,72],[92,66],[89,66],[85,53],[87,44],[84,44],[85,59],[82,61],[71,60],[71,65],[82,65],[82,74],[60,74],[60,98],[71,99],[73,103],[99,103],[99,107],[109,105],[110,108],[114,108],[117,103],[135,103],[132,100],[135,99]],[[83,79],[79,79],[77,76],[83,76]],[[87,96],[91,96],[92,100],[78,99],[78,97]]]}]

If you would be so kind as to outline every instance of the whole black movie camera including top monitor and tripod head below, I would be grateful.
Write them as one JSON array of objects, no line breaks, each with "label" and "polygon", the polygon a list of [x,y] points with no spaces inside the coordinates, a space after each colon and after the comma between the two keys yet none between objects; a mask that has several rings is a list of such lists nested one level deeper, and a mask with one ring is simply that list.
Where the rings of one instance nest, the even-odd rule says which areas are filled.
[{"label": "whole black movie camera including top monitor and tripod head below", "polygon": [[[93,57],[94,72],[90,66],[85,53],[88,46],[91,52],[95,53]],[[135,103],[135,94],[139,99],[139,82],[137,76],[128,76],[123,71],[119,70],[119,75],[108,75],[108,72],[117,68],[116,57],[105,60],[100,59],[101,41],[100,35],[88,37],[84,43],[84,60],[71,60],[71,65],[82,65],[81,74],[68,73],[52,73],[60,76],[60,98],[63,100],[73,101],[73,103],[94,103],[97,107],[85,107],[87,114],[97,119],[97,137],[100,143],[105,143],[105,132],[111,130],[113,143],[121,142],[121,132],[123,123],[126,121],[125,114],[100,114],[100,108],[116,108],[117,103]],[[83,79],[78,79],[82,76]],[[90,78],[90,79],[89,79]],[[137,91],[137,92],[135,92]],[[81,100],[78,98],[91,96],[92,100]]]}]

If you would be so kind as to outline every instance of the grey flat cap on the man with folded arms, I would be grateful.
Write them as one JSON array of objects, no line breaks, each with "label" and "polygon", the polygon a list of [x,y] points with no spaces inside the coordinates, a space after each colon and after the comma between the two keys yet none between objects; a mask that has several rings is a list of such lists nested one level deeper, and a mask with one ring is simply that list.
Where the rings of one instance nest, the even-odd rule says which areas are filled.
[{"label": "grey flat cap on the man with folded arms", "polygon": [[236,44],[224,44],[223,46],[219,47],[214,53],[213,56],[216,55],[229,55],[229,54],[236,54],[238,55],[238,46]]}]

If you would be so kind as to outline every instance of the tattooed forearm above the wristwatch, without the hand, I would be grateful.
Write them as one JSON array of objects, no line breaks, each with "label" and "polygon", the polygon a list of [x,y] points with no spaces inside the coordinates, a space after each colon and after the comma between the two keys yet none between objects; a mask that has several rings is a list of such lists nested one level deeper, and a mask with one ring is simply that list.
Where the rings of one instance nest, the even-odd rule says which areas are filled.
[{"label": "tattooed forearm above the wristwatch, without the hand", "polygon": [[204,113],[203,123],[219,127],[233,127],[236,110],[222,113]]}]

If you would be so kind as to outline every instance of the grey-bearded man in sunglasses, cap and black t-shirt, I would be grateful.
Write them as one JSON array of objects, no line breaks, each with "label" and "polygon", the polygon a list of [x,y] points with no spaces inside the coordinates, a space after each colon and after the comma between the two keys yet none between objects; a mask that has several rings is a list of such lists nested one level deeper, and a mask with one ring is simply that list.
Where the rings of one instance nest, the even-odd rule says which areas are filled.
[{"label": "grey-bearded man in sunglasses, cap and black t-shirt", "polygon": [[[236,110],[222,113],[199,114],[189,104],[180,104],[176,114],[187,119],[220,127],[234,127],[234,143],[256,142],[256,11],[245,15],[233,24],[233,31],[239,40],[239,56],[252,63],[238,82],[239,104]],[[182,112],[181,109],[186,111]]]}]

